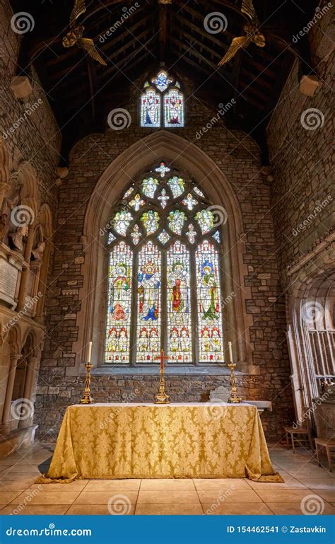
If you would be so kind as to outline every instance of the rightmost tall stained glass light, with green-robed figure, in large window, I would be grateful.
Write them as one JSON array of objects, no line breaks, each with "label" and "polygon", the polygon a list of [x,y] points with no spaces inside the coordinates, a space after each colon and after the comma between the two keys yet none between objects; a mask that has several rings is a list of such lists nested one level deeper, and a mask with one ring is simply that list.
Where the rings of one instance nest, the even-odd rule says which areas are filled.
[{"label": "rightmost tall stained glass light, with green-robed figure, in large window", "polygon": [[222,361],[223,332],[218,252],[208,240],[201,242],[196,250],[196,289],[199,362]]}]

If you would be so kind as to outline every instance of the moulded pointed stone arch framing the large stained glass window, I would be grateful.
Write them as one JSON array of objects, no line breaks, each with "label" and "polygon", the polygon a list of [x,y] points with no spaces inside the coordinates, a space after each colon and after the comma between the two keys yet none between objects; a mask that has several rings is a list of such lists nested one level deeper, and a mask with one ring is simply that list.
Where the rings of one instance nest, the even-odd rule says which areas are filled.
[{"label": "moulded pointed stone arch framing the large stained glass window", "polygon": [[[82,304],[77,318],[78,342],[74,347],[78,355],[76,366],[67,369],[69,374],[78,372],[78,364],[86,357],[88,342],[98,335],[97,324],[105,305],[105,301],[101,300],[105,270],[97,266],[103,260],[105,242],[105,239],[101,239],[100,231],[104,231],[112,205],[123,188],[141,170],[151,167],[162,158],[173,163],[175,168],[189,173],[200,186],[204,186],[208,198],[227,212],[228,221],[223,229],[223,269],[226,272],[224,295],[234,292],[236,296],[233,304],[228,305],[225,316],[228,323],[226,339],[228,337],[234,341],[235,359],[240,362],[240,368],[251,363],[248,330],[251,320],[245,313],[245,298],[249,290],[244,286],[247,270],[242,255],[245,244],[242,241],[242,213],[237,197],[223,171],[204,151],[172,132],[160,130],[137,141],[112,161],[102,173],[88,202],[82,239],[85,246],[82,265],[84,284],[79,295]],[[101,353],[97,351],[100,343],[95,342],[93,362],[100,360]]]}]

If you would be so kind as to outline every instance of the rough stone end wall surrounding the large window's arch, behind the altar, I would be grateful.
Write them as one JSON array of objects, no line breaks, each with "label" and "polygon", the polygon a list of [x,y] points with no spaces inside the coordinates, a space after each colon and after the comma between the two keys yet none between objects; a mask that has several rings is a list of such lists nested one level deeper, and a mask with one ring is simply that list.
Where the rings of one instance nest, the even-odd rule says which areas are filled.
[{"label": "rough stone end wall surrounding the large window's arch, behind the altar", "polygon": [[[35,406],[35,422],[40,426],[38,436],[41,439],[54,440],[66,406],[78,402],[83,390],[83,376],[66,376],[66,368],[75,364],[73,344],[78,335],[76,313],[81,307],[78,293],[83,286],[81,262],[85,257],[81,243],[83,221],[88,199],[105,168],[128,146],[149,133],[148,129],[138,126],[136,98],[134,96],[127,105],[132,118],[130,127],[91,134],[76,144],[69,159],[69,176],[60,187],[54,240],[57,253],[47,302],[48,336]],[[229,132],[223,124],[217,123],[196,139],[196,132],[212,116],[213,112],[191,96],[187,101],[187,127],[175,129],[175,132],[194,141],[216,162],[233,185],[240,202],[246,236],[244,260],[248,267],[245,284],[250,288],[245,312],[253,318],[250,328],[252,356],[253,363],[260,366],[261,375],[241,376],[239,386],[245,398],[273,401],[274,411],[262,417],[267,436],[274,439],[280,436],[282,424],[292,420],[293,401],[274,226],[269,214],[269,186],[260,175],[259,149],[246,134]],[[168,376],[167,386],[172,398],[205,401],[211,389],[227,380],[226,376]],[[100,402],[127,398],[151,401],[156,387],[157,377],[153,376],[93,378],[93,394]],[[133,397],[136,388],[138,392]]]}]

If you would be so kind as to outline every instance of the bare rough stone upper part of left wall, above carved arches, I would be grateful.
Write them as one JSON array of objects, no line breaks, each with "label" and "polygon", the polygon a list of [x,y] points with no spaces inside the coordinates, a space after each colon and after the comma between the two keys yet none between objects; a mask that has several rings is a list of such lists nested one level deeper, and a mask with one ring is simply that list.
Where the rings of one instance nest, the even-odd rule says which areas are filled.
[{"label": "bare rough stone upper part of left wall, above carved arches", "polygon": [[[6,142],[13,170],[28,161],[36,170],[42,202],[56,214],[56,167],[59,163],[61,136],[45,92],[33,66],[28,98],[15,98],[11,80],[17,75],[16,65],[21,36],[11,28],[13,11],[7,0],[0,4],[0,137]],[[21,66],[22,67],[22,66]],[[33,105],[36,107],[32,108]],[[27,111],[30,111],[28,114]]]}]

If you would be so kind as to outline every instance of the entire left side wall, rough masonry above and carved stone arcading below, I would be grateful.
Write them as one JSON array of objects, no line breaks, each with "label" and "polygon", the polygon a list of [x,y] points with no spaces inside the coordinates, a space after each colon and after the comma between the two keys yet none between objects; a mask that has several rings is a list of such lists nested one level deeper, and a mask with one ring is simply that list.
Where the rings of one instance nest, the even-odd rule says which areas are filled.
[{"label": "entire left side wall, rough masonry above and carved stone arcading below", "polygon": [[[52,229],[56,224],[57,165],[61,136],[47,96],[33,66],[28,68],[28,93],[16,98],[13,79],[18,75],[18,57],[23,37],[13,31],[13,11],[7,0],[0,4],[0,427],[2,439],[13,429],[28,427],[31,417],[18,421],[11,402],[15,400],[16,368],[25,364],[20,394],[35,399],[35,385],[44,337],[43,301],[48,265],[52,269]],[[18,209],[28,209],[28,233],[22,247],[10,248],[8,232],[17,232],[12,219]],[[22,219],[22,216],[21,216]],[[35,243],[45,242],[40,262],[33,263]],[[50,257],[50,258],[49,258]],[[35,257],[34,257],[35,258]],[[16,263],[14,267],[13,263]],[[23,270],[22,270],[23,269]],[[31,272],[31,274],[30,274]],[[16,274],[16,275],[14,275]],[[6,288],[4,289],[4,282]],[[10,285],[11,284],[11,285]],[[6,292],[3,292],[3,291]],[[38,291],[34,305],[27,304]],[[31,297],[30,297],[31,298]],[[38,300],[37,300],[38,299]],[[20,306],[22,303],[22,307]],[[33,435],[32,435],[33,436]]]}]

